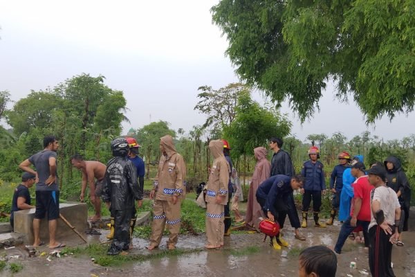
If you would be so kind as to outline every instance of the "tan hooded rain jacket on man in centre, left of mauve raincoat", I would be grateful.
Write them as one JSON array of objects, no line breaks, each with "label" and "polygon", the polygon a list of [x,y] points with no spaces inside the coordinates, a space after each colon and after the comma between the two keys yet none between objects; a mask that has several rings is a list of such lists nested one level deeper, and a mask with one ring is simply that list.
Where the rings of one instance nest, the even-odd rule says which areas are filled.
[{"label": "tan hooded rain jacket on man in centre, left of mauve raincoat", "polygon": [[214,157],[212,169],[206,186],[206,202],[214,203],[216,195],[225,195],[222,205],[228,203],[228,183],[230,166],[223,155],[223,141],[210,141],[209,150]]}]

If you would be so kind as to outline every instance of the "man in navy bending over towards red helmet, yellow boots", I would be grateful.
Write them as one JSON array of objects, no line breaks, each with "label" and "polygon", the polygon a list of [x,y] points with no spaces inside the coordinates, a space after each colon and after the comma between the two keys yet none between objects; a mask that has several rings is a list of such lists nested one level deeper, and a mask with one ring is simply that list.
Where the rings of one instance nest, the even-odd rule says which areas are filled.
[{"label": "man in navy bending over towards red helmet, yellow boots", "polygon": [[[293,190],[301,188],[304,183],[302,175],[295,175],[288,177],[286,175],[275,175],[263,181],[256,193],[257,201],[261,205],[262,210],[271,221],[277,221],[279,226],[284,224],[282,217],[279,216],[281,211],[287,211],[292,208],[286,205],[286,199],[293,193]],[[275,240],[274,240],[275,238]],[[274,249],[279,250],[281,246],[288,246],[281,244],[279,241],[281,236],[271,238]]]}]

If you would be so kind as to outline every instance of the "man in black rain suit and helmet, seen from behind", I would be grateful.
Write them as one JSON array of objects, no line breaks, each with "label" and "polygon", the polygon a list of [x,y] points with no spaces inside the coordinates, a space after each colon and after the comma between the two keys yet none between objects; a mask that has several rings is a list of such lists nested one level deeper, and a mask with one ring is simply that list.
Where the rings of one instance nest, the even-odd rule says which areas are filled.
[{"label": "man in black rain suit and helmet, seen from behind", "polygon": [[111,141],[113,159],[109,160],[102,184],[102,200],[114,217],[114,235],[108,255],[118,255],[130,247],[131,215],[134,200],[142,205],[142,193],[138,188],[137,170],[128,159],[129,145],[124,138]]}]

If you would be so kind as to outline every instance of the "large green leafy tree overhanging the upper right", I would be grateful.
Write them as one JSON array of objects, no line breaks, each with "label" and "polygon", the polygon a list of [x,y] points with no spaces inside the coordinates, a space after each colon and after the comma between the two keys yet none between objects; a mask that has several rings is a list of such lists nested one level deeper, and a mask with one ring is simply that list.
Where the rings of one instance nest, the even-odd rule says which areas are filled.
[{"label": "large green leafy tree overhanging the upper right", "polygon": [[349,93],[373,122],[415,102],[415,1],[221,0],[212,17],[237,73],[305,120],[322,90]]}]

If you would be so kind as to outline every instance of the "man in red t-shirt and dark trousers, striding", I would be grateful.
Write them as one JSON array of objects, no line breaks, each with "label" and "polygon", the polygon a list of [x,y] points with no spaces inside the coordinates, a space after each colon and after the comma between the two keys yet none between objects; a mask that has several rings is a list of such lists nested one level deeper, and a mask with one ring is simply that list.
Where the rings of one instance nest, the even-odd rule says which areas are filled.
[{"label": "man in red t-shirt and dark trousers, striding", "polygon": [[355,163],[351,168],[351,175],[356,177],[356,181],[353,183],[353,202],[351,206],[351,213],[347,220],[343,223],[342,229],[340,229],[338,241],[335,244],[335,253],[342,253],[342,247],[344,242],[356,228],[356,226],[362,226],[363,235],[365,236],[365,247],[369,247],[369,238],[367,236],[367,229],[370,223],[370,195],[371,190],[374,188],[369,183],[367,175],[365,173],[365,164],[362,162]]}]

